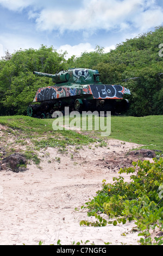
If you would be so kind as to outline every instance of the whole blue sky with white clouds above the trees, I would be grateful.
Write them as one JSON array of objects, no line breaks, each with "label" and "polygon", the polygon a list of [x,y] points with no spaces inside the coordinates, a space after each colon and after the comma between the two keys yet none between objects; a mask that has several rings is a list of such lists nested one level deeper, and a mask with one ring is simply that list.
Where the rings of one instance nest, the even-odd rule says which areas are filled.
[{"label": "whole blue sky with white clouds above the trees", "polygon": [[67,58],[96,45],[108,52],[162,24],[162,0],[0,0],[0,58],[41,44]]}]

